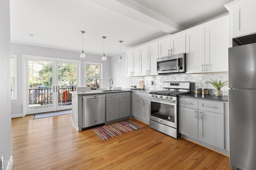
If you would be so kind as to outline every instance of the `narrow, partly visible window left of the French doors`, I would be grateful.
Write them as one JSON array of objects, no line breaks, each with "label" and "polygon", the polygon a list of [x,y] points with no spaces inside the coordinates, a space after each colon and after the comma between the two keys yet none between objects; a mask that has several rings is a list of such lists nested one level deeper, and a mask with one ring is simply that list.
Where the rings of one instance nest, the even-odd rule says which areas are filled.
[{"label": "narrow, partly visible window left of the French doors", "polygon": [[17,100],[17,55],[11,55],[10,68],[11,68],[11,99]]}]

